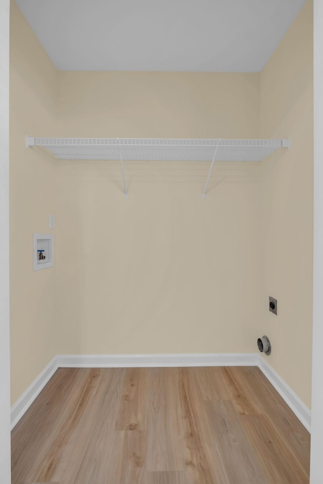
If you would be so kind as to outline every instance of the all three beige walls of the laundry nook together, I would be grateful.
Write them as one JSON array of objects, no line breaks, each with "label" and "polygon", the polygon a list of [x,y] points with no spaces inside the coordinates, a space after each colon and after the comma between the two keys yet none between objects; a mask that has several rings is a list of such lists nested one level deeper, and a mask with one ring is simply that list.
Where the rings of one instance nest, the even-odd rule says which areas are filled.
[{"label": "all three beige walls of the laundry nook together", "polygon": [[[264,333],[267,361],[310,404],[311,33],[309,1],[261,74],[57,72],[12,2],[13,402],[57,353],[253,352]],[[292,148],[217,164],[206,200],[208,163],[125,162],[125,200],[118,162],[54,160],[27,133]],[[56,263],[34,273],[49,213]]]}]

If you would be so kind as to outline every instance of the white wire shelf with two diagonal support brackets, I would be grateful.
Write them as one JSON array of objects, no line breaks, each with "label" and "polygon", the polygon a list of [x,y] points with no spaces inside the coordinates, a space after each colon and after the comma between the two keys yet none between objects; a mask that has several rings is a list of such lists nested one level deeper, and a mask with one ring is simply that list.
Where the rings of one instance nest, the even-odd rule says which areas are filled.
[{"label": "white wire shelf with two diagonal support brackets", "polygon": [[283,140],[223,140],[175,138],[31,138],[27,148],[41,146],[60,160],[120,160],[125,198],[128,198],[123,160],[210,161],[202,197],[215,161],[261,161],[276,150],[290,147]]}]

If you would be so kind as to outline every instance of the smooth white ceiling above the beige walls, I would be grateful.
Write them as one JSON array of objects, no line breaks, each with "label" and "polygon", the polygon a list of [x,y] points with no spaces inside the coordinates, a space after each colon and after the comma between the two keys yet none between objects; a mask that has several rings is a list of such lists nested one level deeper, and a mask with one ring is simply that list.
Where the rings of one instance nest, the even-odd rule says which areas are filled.
[{"label": "smooth white ceiling above the beige walls", "polygon": [[305,0],[16,0],[60,70],[259,72]]}]

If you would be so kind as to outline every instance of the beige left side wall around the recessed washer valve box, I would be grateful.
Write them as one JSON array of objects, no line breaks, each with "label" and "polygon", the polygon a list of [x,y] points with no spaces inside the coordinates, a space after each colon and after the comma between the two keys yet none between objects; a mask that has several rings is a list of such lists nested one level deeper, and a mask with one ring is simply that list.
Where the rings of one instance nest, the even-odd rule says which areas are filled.
[{"label": "beige left side wall around the recessed washer valve box", "polygon": [[55,267],[33,272],[33,232],[53,232],[55,161],[26,148],[54,132],[57,71],[15,2],[10,10],[11,400],[57,354]]}]

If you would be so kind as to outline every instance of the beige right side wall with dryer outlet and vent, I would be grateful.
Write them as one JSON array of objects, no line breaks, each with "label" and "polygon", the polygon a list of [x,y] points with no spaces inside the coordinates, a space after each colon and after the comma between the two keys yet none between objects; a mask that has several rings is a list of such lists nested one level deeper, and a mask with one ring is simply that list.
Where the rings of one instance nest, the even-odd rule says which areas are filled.
[{"label": "beige right side wall with dryer outlet and vent", "polygon": [[[268,363],[310,406],[313,247],[313,12],[308,0],[261,72],[265,138],[291,149],[262,163],[263,290],[260,333]],[[268,296],[278,299],[278,316]],[[261,334],[261,335],[262,335]]]}]

